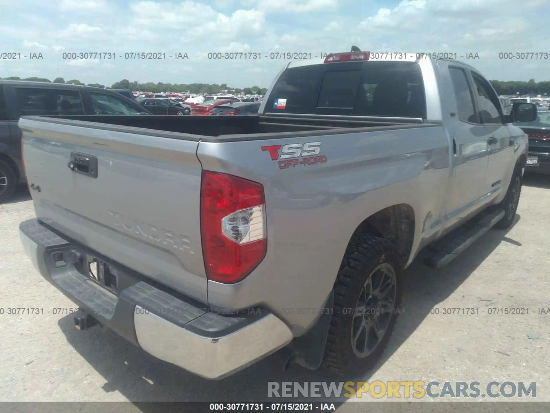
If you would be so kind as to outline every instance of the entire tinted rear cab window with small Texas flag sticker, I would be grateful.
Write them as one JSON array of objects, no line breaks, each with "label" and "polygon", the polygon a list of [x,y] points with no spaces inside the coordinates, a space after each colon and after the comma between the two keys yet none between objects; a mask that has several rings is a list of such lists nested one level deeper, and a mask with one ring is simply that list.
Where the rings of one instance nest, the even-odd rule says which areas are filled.
[{"label": "entire tinted rear cab window with small Texas flag sticker", "polygon": [[267,98],[266,113],[426,118],[415,62],[342,62],[285,70]]}]

